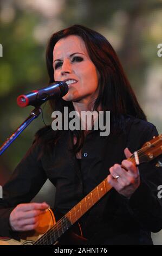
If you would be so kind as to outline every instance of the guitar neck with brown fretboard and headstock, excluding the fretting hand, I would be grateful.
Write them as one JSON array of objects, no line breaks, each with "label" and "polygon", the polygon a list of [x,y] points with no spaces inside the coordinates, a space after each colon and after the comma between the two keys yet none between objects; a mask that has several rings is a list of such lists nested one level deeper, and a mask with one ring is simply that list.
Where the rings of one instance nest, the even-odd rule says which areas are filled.
[{"label": "guitar neck with brown fretboard and headstock, excluding the fretting hand", "polygon": [[[133,164],[141,162],[149,162],[155,157],[161,155],[162,152],[162,135],[152,139],[144,144],[144,147],[134,152],[127,160]],[[76,204],[67,212],[41,239],[35,242],[35,245],[46,244],[53,245],[61,235],[63,235],[75,222],[79,220],[86,212],[92,208],[105,194],[111,190],[112,186],[107,182],[107,178],[94,188],[85,198]]]}]

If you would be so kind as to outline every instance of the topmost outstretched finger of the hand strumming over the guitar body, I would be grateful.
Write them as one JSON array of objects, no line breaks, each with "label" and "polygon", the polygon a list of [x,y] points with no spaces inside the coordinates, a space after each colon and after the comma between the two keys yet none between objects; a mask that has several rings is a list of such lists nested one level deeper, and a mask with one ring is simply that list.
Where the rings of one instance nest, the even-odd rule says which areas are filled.
[{"label": "topmost outstretched finger of the hand strumming over the guitar body", "polygon": [[17,211],[30,211],[30,210],[45,210],[48,209],[49,205],[47,203],[27,203],[19,204],[17,206]]}]

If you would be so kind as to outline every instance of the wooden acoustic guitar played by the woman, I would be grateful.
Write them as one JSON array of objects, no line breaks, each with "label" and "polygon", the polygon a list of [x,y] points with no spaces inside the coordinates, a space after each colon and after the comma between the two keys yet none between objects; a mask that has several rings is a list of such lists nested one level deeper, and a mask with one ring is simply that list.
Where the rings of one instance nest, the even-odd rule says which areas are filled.
[{"label": "wooden acoustic guitar played by the woman", "polygon": [[[159,135],[146,142],[141,149],[135,151],[127,160],[137,165],[150,162],[161,154],[162,135]],[[158,162],[156,166],[161,167],[162,163]],[[56,245],[57,243],[62,245],[85,245],[87,239],[83,237],[78,220],[111,188],[112,186],[108,184],[106,178],[59,221],[56,221],[53,211],[47,209],[40,216],[39,225],[35,230],[20,233],[21,241],[9,237],[0,237],[0,245]],[[74,230],[71,229],[72,226],[75,227]]]}]

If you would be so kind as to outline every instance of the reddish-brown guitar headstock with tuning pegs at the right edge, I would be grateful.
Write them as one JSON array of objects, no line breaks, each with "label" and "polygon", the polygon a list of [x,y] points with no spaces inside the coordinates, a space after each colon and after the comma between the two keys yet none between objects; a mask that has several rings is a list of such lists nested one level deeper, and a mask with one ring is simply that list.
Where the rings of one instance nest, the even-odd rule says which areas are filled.
[{"label": "reddish-brown guitar headstock with tuning pegs at the right edge", "polygon": [[153,137],[151,141],[146,142],[138,152],[141,162],[150,162],[155,157],[162,154],[162,135]]}]

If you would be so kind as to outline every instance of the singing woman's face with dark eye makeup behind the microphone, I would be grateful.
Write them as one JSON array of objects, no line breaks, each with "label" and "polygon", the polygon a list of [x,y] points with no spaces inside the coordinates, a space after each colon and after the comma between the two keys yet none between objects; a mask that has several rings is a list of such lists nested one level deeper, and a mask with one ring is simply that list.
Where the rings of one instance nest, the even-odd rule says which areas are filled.
[{"label": "singing woman's face with dark eye makeup behind the microphone", "polygon": [[53,60],[54,80],[70,84],[64,100],[89,103],[96,99],[98,71],[80,36],[60,39],[54,47]]}]

